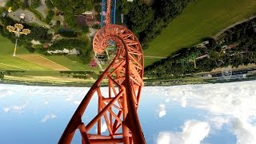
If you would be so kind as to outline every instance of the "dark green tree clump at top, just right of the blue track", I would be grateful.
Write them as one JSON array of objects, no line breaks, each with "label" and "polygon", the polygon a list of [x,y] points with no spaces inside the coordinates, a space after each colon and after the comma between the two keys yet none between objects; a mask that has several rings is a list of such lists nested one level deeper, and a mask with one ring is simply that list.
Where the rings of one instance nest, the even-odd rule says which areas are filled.
[{"label": "dark green tree clump at top, just right of the blue track", "polygon": [[148,42],[156,38],[191,1],[194,0],[158,0],[148,6],[143,0],[132,3],[121,0],[117,6],[122,13],[127,14],[127,25],[138,36],[143,49],[146,49]]}]

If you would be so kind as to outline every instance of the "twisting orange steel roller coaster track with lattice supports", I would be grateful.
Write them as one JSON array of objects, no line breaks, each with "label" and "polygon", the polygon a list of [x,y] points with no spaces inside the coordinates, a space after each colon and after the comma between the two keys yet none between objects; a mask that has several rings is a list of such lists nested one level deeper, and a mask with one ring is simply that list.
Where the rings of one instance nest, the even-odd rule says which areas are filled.
[{"label": "twisting orange steel roller coaster track with lattice supports", "polygon": [[[125,26],[113,24],[114,9],[115,0],[102,1],[102,29],[95,34],[93,46],[94,52],[101,54],[110,41],[115,42],[116,55],[82,99],[59,144],[70,143],[76,130],[80,131],[82,144],[146,143],[137,113],[144,85],[142,47],[138,38]],[[103,81],[108,82],[107,94],[102,92]],[[86,108],[93,97],[98,98],[97,113],[90,122],[83,122],[82,116],[86,115]],[[107,126],[105,133],[102,133],[103,122]],[[94,127],[97,127],[96,131],[92,130]]]}]

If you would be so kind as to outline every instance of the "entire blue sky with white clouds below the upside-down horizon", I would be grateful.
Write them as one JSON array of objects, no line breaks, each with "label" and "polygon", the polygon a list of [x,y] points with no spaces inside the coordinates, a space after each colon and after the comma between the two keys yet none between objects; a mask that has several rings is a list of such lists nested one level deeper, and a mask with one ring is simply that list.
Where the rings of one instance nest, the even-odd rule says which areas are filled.
[{"label": "entire blue sky with white clouds below the upside-down horizon", "polygon": [[[255,86],[256,81],[144,87],[138,116],[146,142],[256,143]],[[88,90],[1,84],[0,143],[57,143]],[[94,117],[96,100],[88,106],[85,122]],[[102,122],[102,133],[106,130]],[[78,134],[72,143],[81,143]]]}]

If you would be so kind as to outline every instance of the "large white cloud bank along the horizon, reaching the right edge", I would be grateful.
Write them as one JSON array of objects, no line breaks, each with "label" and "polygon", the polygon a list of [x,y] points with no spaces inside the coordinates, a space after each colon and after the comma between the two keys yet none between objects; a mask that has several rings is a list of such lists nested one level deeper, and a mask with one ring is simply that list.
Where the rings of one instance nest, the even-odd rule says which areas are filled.
[{"label": "large white cloud bank along the horizon, reaching the right edge", "polygon": [[[215,129],[230,124],[237,143],[256,142],[256,81],[230,82],[206,85],[146,87],[144,93],[162,95],[181,106],[190,106],[210,112],[207,121]],[[153,90],[154,89],[154,90]]]}]

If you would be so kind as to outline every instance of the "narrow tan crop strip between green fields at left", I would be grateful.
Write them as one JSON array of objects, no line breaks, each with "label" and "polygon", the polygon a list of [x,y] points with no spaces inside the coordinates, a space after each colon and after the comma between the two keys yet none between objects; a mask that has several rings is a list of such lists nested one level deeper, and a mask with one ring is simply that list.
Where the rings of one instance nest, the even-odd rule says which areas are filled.
[{"label": "narrow tan crop strip between green fields at left", "polygon": [[38,54],[19,54],[17,57],[22,58],[28,62],[38,64],[40,66],[50,68],[52,70],[70,70],[64,66],[59,65],[56,62],[52,62],[47,58],[43,58],[41,55]]}]

